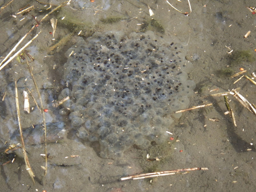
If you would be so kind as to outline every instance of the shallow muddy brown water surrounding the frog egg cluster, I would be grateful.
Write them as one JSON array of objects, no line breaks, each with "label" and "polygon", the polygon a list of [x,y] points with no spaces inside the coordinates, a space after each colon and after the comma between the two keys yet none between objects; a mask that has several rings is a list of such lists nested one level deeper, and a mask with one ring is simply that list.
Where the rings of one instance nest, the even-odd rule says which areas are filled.
[{"label": "shallow muddy brown water surrounding the frog egg cluster", "polygon": [[[8,1],[1,2],[1,6]],[[52,1],[60,4],[62,1]],[[189,11],[187,1],[178,3],[170,0],[178,9]],[[84,4],[86,3],[86,4]],[[151,23],[151,18],[158,21],[164,29],[154,28],[149,24],[148,30],[153,30],[157,35],[176,36],[180,42],[188,46],[187,60],[192,62],[193,67],[188,73],[188,78],[196,83],[194,96],[190,106],[201,105],[203,102],[212,102],[212,107],[196,109],[184,112],[179,119],[170,127],[174,140],[161,146],[153,146],[146,150],[131,148],[125,152],[120,160],[102,159],[99,157],[97,143],[88,145],[81,142],[75,136],[74,131],[68,130],[68,137],[57,143],[49,143],[47,146],[50,153],[48,160],[48,173],[44,176],[44,159],[40,154],[44,153],[44,146],[28,146],[28,158],[36,175],[34,185],[25,169],[24,160],[17,157],[13,163],[1,165],[1,190],[9,191],[254,191],[255,188],[255,116],[241,106],[235,98],[228,96],[230,105],[234,110],[237,127],[232,123],[223,97],[209,96],[212,93],[225,92],[228,89],[240,87],[240,93],[250,102],[255,102],[255,85],[245,79],[233,84],[237,79],[230,78],[239,68],[247,69],[248,73],[254,72],[255,67],[251,60],[232,60],[228,46],[234,50],[232,55],[241,50],[252,50],[252,60],[255,54],[255,15],[245,6],[255,6],[255,2],[243,1],[191,1],[192,13],[185,16],[175,11],[164,0],[156,1],[71,1],[71,5],[62,8],[58,15],[55,40],[52,40],[51,24],[49,16],[31,34],[34,36],[42,30],[38,38],[28,46],[30,54],[35,61],[30,63],[33,73],[41,88],[47,122],[67,121],[59,116],[58,109],[52,107],[52,100],[57,98],[58,92],[65,86],[61,81],[61,66],[66,62],[64,53],[76,42],[77,35],[72,34],[70,41],[57,50],[49,52],[50,46],[70,33],[68,25],[62,23],[61,18],[76,19],[79,24],[84,24],[88,29],[86,35],[92,31],[117,30],[129,34],[132,31],[140,31],[145,23]],[[28,15],[10,15],[18,12],[20,7],[26,4],[35,5],[36,9]],[[148,5],[154,12],[149,16]],[[206,4],[206,7],[203,5]],[[97,7],[99,5],[99,7]],[[47,5],[49,6],[49,5]],[[47,7],[46,6],[46,7]],[[84,11],[74,9],[87,8]],[[97,7],[97,8],[96,8]],[[45,13],[39,14],[40,10],[46,9],[44,5],[36,1],[23,1],[16,4],[14,1],[0,13],[1,17],[1,56],[6,56],[17,41],[24,36],[35,24],[31,14],[42,18]],[[135,17],[137,16],[137,17]],[[104,23],[102,19],[122,18],[117,22]],[[21,20],[25,18],[24,20]],[[59,19],[60,18],[60,19]],[[132,18],[132,19],[131,19]],[[64,19],[64,20],[65,20]],[[21,21],[20,21],[21,20]],[[73,21],[74,22],[74,21]],[[230,26],[231,25],[231,26]],[[91,29],[92,31],[90,31]],[[73,29],[74,30],[74,29]],[[158,30],[158,31],[157,31]],[[244,38],[247,31],[251,34]],[[29,35],[24,42],[31,39]],[[22,46],[25,43],[22,44]],[[17,48],[19,49],[19,48]],[[52,55],[50,55],[51,53]],[[223,69],[231,69],[231,75],[223,75]],[[36,91],[26,63],[19,64],[14,59],[0,72],[1,77],[1,100],[0,101],[0,141],[1,146],[9,143],[10,133],[18,129],[16,107],[14,99],[14,79],[18,80],[20,101],[24,85],[33,94]],[[26,80],[26,78],[28,79]],[[25,81],[26,80],[26,81]],[[219,88],[218,91],[212,91]],[[32,98],[31,98],[32,100]],[[37,96],[36,96],[36,100]],[[31,114],[22,112],[23,127],[32,124],[40,124],[42,118],[35,107]],[[20,104],[20,108],[22,108]],[[209,119],[218,118],[219,121]],[[177,141],[179,140],[179,141]],[[6,147],[6,146],[4,146]],[[248,150],[252,149],[252,150]],[[182,150],[182,152],[180,152]],[[147,161],[149,158],[158,157],[160,161]],[[71,155],[78,155],[71,157]],[[68,158],[66,158],[68,157]],[[208,171],[191,171],[188,174],[163,176],[150,180],[118,181],[120,177],[152,171],[165,171],[188,167],[208,167]]]}]

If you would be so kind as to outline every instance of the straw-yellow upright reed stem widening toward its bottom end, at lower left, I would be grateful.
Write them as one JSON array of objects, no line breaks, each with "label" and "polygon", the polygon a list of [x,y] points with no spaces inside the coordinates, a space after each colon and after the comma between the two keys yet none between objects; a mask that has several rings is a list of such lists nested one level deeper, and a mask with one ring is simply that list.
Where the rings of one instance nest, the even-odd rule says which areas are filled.
[{"label": "straw-yellow upright reed stem widening toward its bottom end, at lower left", "polygon": [[25,143],[23,140],[22,127],[21,127],[21,122],[20,122],[20,107],[19,107],[19,98],[18,98],[18,88],[17,88],[17,80],[16,79],[15,79],[15,102],[16,102],[17,116],[18,116],[18,122],[19,122],[20,141],[21,141],[21,146],[22,146],[21,148],[23,150],[23,156],[24,156],[24,160],[25,160],[25,164],[26,164],[26,170],[28,171],[28,174],[30,175],[31,179],[33,180],[33,182],[35,184],[35,180],[34,180],[35,175],[30,167],[26,148],[25,148]]}]

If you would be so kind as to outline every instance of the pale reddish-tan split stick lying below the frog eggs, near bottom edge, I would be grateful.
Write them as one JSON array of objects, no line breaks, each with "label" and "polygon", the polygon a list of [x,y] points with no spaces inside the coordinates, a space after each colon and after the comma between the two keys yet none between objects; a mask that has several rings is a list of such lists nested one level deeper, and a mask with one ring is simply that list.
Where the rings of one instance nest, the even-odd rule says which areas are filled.
[{"label": "pale reddish-tan split stick lying below the frog eggs, near bottom edge", "polygon": [[145,178],[151,178],[151,177],[159,177],[164,175],[174,175],[179,172],[188,172],[188,171],[196,171],[196,170],[208,170],[206,167],[195,167],[195,168],[187,168],[187,169],[176,169],[176,170],[170,170],[170,171],[161,171],[161,172],[152,172],[152,173],[143,173],[139,175],[132,175],[128,177],[122,177],[119,180],[137,180],[137,179],[145,179]]}]

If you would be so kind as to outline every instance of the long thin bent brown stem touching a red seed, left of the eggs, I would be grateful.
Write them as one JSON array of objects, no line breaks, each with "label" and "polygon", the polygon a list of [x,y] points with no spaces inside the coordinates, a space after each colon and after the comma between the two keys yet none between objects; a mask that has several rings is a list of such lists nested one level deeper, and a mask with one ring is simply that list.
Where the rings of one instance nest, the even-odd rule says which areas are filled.
[{"label": "long thin bent brown stem touching a red seed, left of the eggs", "polygon": [[41,114],[42,114],[42,116],[43,116],[43,121],[44,121],[44,154],[45,154],[45,172],[44,172],[44,175],[46,175],[46,173],[47,173],[47,148],[46,148],[46,131],[47,131],[47,129],[46,129],[46,121],[45,121],[44,108],[43,108],[43,100],[42,100],[41,94],[40,94],[40,92],[39,92],[39,89],[38,89],[38,87],[37,87],[37,84],[36,84],[36,80],[35,80],[35,78],[34,78],[34,75],[33,75],[32,71],[31,71],[31,69],[30,69],[30,66],[29,66],[29,64],[28,64],[28,59],[27,59],[26,55],[24,55],[24,56],[25,56],[25,59],[26,59],[26,61],[27,61],[28,70],[29,70],[29,72],[30,72],[30,75],[31,75],[31,77],[32,77],[32,79],[33,79],[33,82],[34,82],[34,84],[35,84],[35,87],[36,87],[36,92],[37,92],[37,94],[38,94],[38,97],[39,97],[39,100],[40,100],[40,105],[41,105],[41,108],[38,108],[38,109],[41,111]]}]

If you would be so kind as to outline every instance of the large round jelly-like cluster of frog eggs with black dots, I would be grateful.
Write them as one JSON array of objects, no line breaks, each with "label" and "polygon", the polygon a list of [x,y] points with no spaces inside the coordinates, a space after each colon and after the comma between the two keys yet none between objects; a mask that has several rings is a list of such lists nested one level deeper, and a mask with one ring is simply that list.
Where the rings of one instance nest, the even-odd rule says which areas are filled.
[{"label": "large round jelly-like cluster of frog eggs with black dots", "polygon": [[76,135],[100,143],[103,158],[121,157],[133,145],[163,143],[174,111],[188,106],[195,84],[187,80],[185,49],[153,32],[94,34],[67,52],[58,100]]}]

